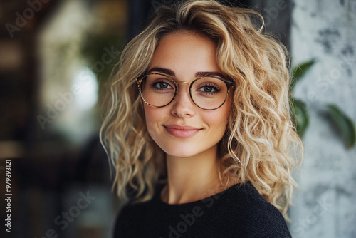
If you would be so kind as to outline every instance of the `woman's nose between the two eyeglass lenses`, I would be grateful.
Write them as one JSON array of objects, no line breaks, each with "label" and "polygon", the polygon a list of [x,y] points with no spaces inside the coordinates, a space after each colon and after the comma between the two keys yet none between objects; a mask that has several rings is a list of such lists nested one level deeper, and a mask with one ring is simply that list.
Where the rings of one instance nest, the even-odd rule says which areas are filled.
[{"label": "woman's nose between the two eyeglass lenses", "polygon": [[196,108],[189,95],[189,83],[179,82],[177,87],[177,95],[172,101],[171,113],[179,118],[190,118],[195,114]]}]

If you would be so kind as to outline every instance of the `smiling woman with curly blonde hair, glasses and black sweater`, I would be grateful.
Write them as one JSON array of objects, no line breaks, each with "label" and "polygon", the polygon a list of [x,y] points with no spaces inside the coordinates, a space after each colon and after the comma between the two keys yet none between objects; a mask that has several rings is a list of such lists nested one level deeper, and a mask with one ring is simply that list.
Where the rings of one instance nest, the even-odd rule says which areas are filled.
[{"label": "smiling woman with curly blonde hair, glasses and black sweater", "polygon": [[115,237],[290,237],[302,145],[286,50],[262,29],[254,11],[185,1],[122,51],[101,130],[132,197]]}]

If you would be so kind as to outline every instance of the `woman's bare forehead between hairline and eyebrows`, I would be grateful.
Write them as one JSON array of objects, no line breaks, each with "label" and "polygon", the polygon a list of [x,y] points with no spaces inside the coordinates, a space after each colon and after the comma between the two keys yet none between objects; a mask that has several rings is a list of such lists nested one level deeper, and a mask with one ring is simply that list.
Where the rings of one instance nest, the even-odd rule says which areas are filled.
[{"label": "woman's bare forehead between hairline and eyebrows", "polygon": [[159,42],[150,68],[168,68],[177,77],[192,76],[198,71],[217,71],[216,46],[197,33],[171,33]]}]

